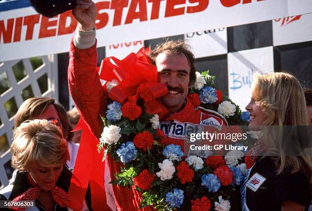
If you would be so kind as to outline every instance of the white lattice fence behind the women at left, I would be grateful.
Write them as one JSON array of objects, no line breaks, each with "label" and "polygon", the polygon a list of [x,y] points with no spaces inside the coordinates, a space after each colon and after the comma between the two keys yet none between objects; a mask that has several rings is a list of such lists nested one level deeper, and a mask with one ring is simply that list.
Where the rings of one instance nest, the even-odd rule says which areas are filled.
[{"label": "white lattice fence behind the women at left", "polygon": [[[38,65],[40,66],[37,67]],[[34,96],[58,99],[57,55],[0,62],[0,87],[1,92],[4,91],[0,95],[1,189],[7,186],[10,179],[9,148],[12,143],[14,115],[17,109],[25,99]]]}]

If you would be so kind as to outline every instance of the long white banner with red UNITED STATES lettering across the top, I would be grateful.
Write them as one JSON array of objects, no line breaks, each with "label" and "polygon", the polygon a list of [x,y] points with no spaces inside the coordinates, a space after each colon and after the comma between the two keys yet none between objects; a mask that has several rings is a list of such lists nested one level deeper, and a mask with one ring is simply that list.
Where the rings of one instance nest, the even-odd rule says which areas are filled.
[{"label": "long white banner with red UNITED STATES lettering across the top", "polygon": [[[285,0],[95,2],[99,47],[272,20],[292,12]],[[304,2],[297,1],[295,13],[312,12],[312,7],[303,8],[308,5]],[[68,51],[76,24],[70,11],[55,18],[43,17],[31,7],[1,12],[0,61]]]}]

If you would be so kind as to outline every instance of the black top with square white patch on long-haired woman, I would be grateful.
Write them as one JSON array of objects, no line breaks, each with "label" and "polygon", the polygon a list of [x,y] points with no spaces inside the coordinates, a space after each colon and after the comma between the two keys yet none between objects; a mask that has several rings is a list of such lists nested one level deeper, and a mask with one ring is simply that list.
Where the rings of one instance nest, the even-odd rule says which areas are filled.
[{"label": "black top with square white patch on long-haired woman", "polygon": [[[306,175],[301,171],[295,174],[291,174],[290,171],[284,171],[279,175],[276,175],[276,172],[277,167],[273,164],[270,157],[258,158],[251,170],[246,173],[244,183],[242,184],[243,210],[280,210],[283,201],[301,204],[305,206],[305,210],[308,210],[311,196],[309,180]],[[252,191],[246,187],[246,182],[255,173],[265,177],[266,180],[256,191]]]}]

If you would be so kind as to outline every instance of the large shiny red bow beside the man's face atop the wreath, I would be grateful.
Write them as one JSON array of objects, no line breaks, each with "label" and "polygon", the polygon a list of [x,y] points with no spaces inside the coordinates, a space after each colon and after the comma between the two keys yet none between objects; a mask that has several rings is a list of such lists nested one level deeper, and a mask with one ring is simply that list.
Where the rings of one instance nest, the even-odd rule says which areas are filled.
[{"label": "large shiny red bow beside the man's face atop the wreath", "polygon": [[[168,90],[165,84],[158,83],[157,68],[145,55],[147,50],[141,48],[137,54],[131,53],[123,60],[115,57],[103,59],[99,69],[99,78],[106,82],[118,81],[118,85],[110,90],[109,97],[120,103],[126,100],[136,103],[140,97],[138,88],[149,89],[153,99],[145,101],[146,110],[151,114],[159,114],[163,108],[156,98],[166,95]],[[105,87],[106,83],[103,86]]]}]

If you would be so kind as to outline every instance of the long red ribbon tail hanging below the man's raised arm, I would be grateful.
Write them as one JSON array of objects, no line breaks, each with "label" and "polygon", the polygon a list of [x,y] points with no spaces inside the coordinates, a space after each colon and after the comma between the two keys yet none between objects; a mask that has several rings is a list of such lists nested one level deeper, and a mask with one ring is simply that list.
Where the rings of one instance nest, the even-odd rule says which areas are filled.
[{"label": "long red ribbon tail hanging below the man's raised arm", "polygon": [[103,150],[97,152],[98,139],[92,134],[87,123],[80,118],[76,129],[82,129],[79,151],[71,177],[68,197],[74,210],[81,210],[90,183],[91,206],[93,210],[109,210],[104,187],[105,165]]}]

